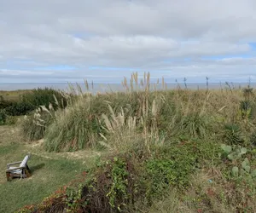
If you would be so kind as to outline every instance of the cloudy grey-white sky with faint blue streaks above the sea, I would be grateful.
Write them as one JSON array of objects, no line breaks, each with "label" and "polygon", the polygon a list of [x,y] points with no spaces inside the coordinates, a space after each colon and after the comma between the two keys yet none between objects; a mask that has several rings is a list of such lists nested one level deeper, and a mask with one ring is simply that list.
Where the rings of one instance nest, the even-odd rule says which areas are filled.
[{"label": "cloudy grey-white sky with faint blue streaks above the sea", "polygon": [[0,83],[256,81],[255,0],[0,0]]}]

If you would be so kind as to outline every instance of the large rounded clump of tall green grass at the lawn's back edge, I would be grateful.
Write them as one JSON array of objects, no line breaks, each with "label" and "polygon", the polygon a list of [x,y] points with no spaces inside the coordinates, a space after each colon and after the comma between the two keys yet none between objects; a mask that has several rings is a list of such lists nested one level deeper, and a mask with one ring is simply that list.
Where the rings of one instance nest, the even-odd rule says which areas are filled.
[{"label": "large rounded clump of tall green grass at the lawn's back edge", "polygon": [[94,147],[101,127],[91,110],[91,97],[88,96],[73,107],[57,112],[55,122],[46,131],[45,149],[59,152]]}]

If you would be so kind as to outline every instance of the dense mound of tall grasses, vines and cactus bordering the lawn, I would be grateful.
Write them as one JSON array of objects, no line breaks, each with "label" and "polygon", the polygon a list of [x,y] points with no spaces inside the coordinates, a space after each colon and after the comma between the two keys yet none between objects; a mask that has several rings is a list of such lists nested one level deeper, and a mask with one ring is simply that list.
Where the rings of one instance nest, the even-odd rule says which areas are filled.
[{"label": "dense mound of tall grasses, vines and cactus bordering the lawn", "polygon": [[44,138],[48,152],[102,158],[18,212],[255,212],[253,89],[152,91],[149,74],[126,82],[125,93],[80,92],[24,119],[24,138]]}]

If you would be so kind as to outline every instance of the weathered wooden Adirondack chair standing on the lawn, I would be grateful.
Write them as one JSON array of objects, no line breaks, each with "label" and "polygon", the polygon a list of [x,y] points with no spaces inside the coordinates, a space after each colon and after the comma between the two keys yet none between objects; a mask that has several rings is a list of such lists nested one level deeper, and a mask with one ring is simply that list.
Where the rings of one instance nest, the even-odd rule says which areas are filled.
[{"label": "weathered wooden Adirondack chair standing on the lawn", "polygon": [[[31,171],[28,168],[27,161],[30,158],[30,155],[26,155],[22,161],[14,162],[7,164],[6,178],[7,181],[11,181],[13,177],[26,178],[31,176]],[[18,167],[15,167],[15,164],[20,164]]]}]

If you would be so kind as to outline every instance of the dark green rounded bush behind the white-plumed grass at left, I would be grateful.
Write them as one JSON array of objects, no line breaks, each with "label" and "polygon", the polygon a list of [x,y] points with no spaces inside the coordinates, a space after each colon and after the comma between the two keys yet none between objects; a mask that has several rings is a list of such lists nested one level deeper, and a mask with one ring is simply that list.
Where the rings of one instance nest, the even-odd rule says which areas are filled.
[{"label": "dark green rounded bush behind the white-plumed grass at left", "polygon": [[21,99],[35,107],[48,107],[49,103],[52,104],[54,109],[67,107],[67,99],[61,94],[61,91],[50,88],[32,89],[31,92],[22,95]]}]

